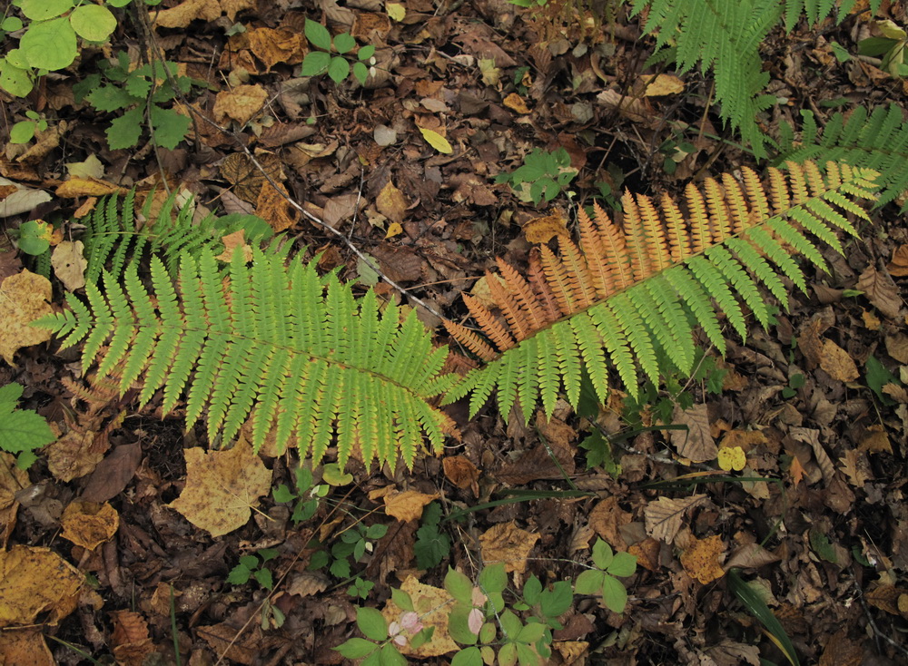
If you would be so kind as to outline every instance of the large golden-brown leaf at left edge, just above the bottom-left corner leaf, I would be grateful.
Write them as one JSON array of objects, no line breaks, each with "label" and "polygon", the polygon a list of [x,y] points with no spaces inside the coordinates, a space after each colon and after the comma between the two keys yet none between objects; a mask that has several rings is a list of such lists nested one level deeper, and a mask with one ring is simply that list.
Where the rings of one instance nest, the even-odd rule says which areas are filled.
[{"label": "large golden-brown leaf at left edge, just above the bottom-left corner leaf", "polygon": [[0,627],[34,624],[39,615],[55,625],[75,610],[84,581],[50,548],[15,544],[0,552]]}]

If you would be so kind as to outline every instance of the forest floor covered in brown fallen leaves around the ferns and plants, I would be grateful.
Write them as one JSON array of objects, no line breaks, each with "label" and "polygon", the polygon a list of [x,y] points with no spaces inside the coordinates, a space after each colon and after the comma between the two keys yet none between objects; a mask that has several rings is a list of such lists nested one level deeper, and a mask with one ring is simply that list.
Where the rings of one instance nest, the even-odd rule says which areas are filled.
[{"label": "forest floor covered in brown fallen leaves around the ferns and plants", "polygon": [[[904,8],[885,5],[893,21],[908,22]],[[55,192],[31,218],[9,218],[10,228],[86,211],[92,195],[110,191],[99,183],[160,198],[166,174],[167,187],[194,197],[200,211],[255,212],[310,256],[321,253],[321,269],[377,281],[380,295],[406,303],[355,247],[433,309],[464,318],[460,295],[482,298],[479,279],[495,257],[525,266],[534,240],[574,228],[566,220],[577,206],[599,201],[614,213],[625,189],[677,196],[690,181],[766,166],[724,128],[711,79],[645,68],[653,43],[627,10],[602,28],[569,15],[534,20],[504,0],[165,0],[159,8],[164,18],[151,32],[125,20],[112,53],[138,62],[153,43],[207,84],[188,99],[212,122],[196,122],[174,150],[145,134],[134,150],[110,150],[104,131],[114,116],[75,103],[74,83],[111,53],[85,50],[28,99],[2,98],[0,133],[28,109],[52,121],[37,142],[5,148],[0,175]],[[300,76],[307,18],[376,45],[366,87]],[[854,13],[771,35],[762,56],[778,103],[761,120],[766,132],[798,126],[801,109],[822,124],[857,104],[908,107],[904,80],[835,57],[834,44],[854,53],[870,22]],[[231,132],[222,131],[228,123]],[[528,153],[559,148],[577,171],[572,198],[534,205],[496,182]],[[74,173],[81,184],[60,189]],[[62,228],[67,239],[77,232]],[[829,255],[829,274],[808,273],[808,291],[795,291],[772,327],[749,319],[745,342],[729,331],[725,358],[708,350],[696,379],[637,408],[616,392],[597,418],[607,449],[567,404],[528,425],[506,423],[494,402],[472,420],[455,404],[445,409],[461,437],[442,456],[394,472],[351,460],[351,477],[340,478],[319,466],[312,485],[324,496],[311,517],[294,521],[295,505],[269,489],[241,503],[242,524],[219,536],[175,502],[187,487],[184,451],[207,450],[202,426],[184,432],[180,409],[163,417],[160,399],[138,410],[134,391],[90,388],[74,352],[58,352],[56,342],[21,348],[15,366],[0,364],[0,385],[25,387],[19,406],[44,416],[59,438],[27,472],[2,455],[0,544],[29,548],[15,564],[29,594],[53,588],[67,567],[88,583],[68,607],[48,602],[29,627],[0,623],[0,661],[341,663],[334,648],[360,635],[357,607],[385,609],[391,588],[408,580],[411,590],[440,588],[449,566],[475,580],[490,559],[510,563],[514,589],[530,574],[574,580],[601,538],[637,555],[636,573],[622,579],[627,608],[577,595],[550,663],[785,663],[732,592],[733,569],[761,591],[801,663],[906,663],[908,223],[893,203],[861,231],[844,257]],[[0,279],[28,261],[6,251]],[[54,303],[64,291],[55,280]],[[438,318],[420,317],[449,342]],[[720,448],[741,447],[744,470],[688,464],[676,445],[691,435],[651,427],[660,416],[705,425],[697,436]],[[293,488],[290,455],[262,463],[267,483]],[[755,477],[767,481],[742,480]],[[222,510],[212,504],[194,511]],[[677,520],[657,532],[647,516],[665,511]],[[447,547],[443,536],[420,542],[433,513]],[[354,542],[355,553],[334,551],[333,568],[312,568],[336,544]],[[252,571],[269,570],[271,589],[265,573],[228,581],[242,556],[262,549],[273,556]],[[42,559],[48,553],[62,558],[58,566]],[[420,570],[425,558],[438,563]],[[6,567],[0,576],[12,580]],[[424,662],[447,664],[453,654]]]}]

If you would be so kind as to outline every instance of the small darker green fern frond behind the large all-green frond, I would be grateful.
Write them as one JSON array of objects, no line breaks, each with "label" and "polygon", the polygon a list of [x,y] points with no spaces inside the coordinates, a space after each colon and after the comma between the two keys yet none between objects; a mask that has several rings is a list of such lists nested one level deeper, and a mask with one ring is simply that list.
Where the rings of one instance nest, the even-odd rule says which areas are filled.
[{"label": "small darker green fern frond behind the large all-green frond", "polygon": [[84,225],[84,256],[87,261],[85,281],[97,284],[106,269],[115,278],[123,275],[127,263],[142,260],[149,254],[159,256],[168,272],[175,276],[184,253],[198,254],[204,248],[218,254],[223,250],[222,238],[237,230],[246,230],[246,240],[268,240],[271,230],[267,223],[254,215],[207,215],[193,222],[192,201],[176,207],[176,192],[161,205],[151,219],[153,197],[143,206],[148,220],[136,228],[135,191],[123,198],[117,194],[104,197],[94,211],[77,220]]}]

